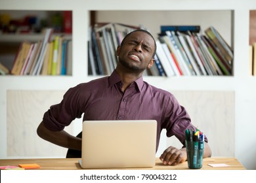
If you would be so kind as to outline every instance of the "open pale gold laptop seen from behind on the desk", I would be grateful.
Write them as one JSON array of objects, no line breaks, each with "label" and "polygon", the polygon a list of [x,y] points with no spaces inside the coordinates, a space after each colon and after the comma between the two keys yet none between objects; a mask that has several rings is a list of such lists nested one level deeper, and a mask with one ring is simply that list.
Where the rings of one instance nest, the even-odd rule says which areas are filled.
[{"label": "open pale gold laptop seen from behind on the desk", "polygon": [[154,167],[156,120],[84,121],[83,169]]}]

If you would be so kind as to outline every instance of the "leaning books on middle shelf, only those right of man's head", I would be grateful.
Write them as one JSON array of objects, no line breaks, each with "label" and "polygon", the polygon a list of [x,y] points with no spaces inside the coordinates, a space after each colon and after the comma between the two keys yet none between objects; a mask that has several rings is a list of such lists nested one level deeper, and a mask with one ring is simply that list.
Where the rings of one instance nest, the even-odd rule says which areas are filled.
[{"label": "leaning books on middle shelf, only those right of man's head", "polygon": [[156,42],[167,76],[232,75],[232,48],[214,27],[161,26]]}]

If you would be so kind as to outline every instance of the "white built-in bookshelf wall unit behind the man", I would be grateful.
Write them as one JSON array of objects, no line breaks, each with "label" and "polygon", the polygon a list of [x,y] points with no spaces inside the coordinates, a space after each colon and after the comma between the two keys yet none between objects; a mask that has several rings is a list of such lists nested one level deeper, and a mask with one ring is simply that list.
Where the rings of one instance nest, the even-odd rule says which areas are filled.
[{"label": "white built-in bookshelf wall unit behind the man", "polygon": [[[251,144],[255,144],[254,139],[256,139],[253,131],[256,127],[253,116],[256,108],[256,78],[249,75],[249,64],[247,64],[249,10],[256,9],[255,1],[160,0],[148,3],[132,0],[129,3],[121,2],[116,3],[114,0],[108,2],[24,0],[23,3],[16,0],[3,0],[0,2],[0,10],[72,10],[73,41],[72,76],[0,76],[0,158],[64,157],[66,149],[63,150],[37,138],[35,129],[41,122],[43,112],[50,105],[58,103],[68,88],[100,77],[88,76],[87,73],[87,36],[92,20],[143,24],[154,33],[159,31],[157,24],[164,24],[162,20],[170,20],[176,25],[200,24],[202,29],[211,24],[215,25],[234,49],[233,75],[170,78],[148,76],[144,80],[175,93],[181,104],[188,108],[194,124],[202,126],[205,133],[209,134],[213,156],[236,156],[247,169],[255,169],[253,162],[256,161],[256,148]],[[178,18],[175,19],[176,17]],[[12,42],[8,37],[2,39]],[[19,38],[14,39],[14,41],[18,40]],[[18,107],[22,109],[18,110]],[[37,115],[30,116],[28,108]],[[20,133],[19,128],[24,133]],[[211,129],[216,129],[221,135],[216,135],[217,132]],[[81,121],[78,119],[78,122],[73,123],[68,130],[76,135],[81,130]],[[24,136],[20,138],[16,134]],[[161,150],[167,144],[173,143],[164,136],[163,134],[161,139]],[[245,136],[247,136],[246,143]],[[33,147],[27,144],[26,138],[29,137],[31,144],[39,145],[33,145],[35,146]],[[224,141],[222,145],[218,145],[219,140],[223,141],[223,138],[228,139],[228,142]],[[12,143],[17,139],[24,146]],[[32,150],[28,152],[26,148],[32,148]],[[50,153],[49,149],[54,151]],[[249,152],[246,151],[247,156],[244,156],[244,150],[249,150]]]}]

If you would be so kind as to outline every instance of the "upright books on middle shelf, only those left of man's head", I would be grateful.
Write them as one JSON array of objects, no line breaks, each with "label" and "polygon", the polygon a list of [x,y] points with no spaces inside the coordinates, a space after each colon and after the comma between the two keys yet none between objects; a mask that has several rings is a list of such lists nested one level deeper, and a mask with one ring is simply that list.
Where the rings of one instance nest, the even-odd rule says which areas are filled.
[{"label": "upright books on middle shelf, only those left of man's head", "polygon": [[[117,65],[116,49],[123,37],[139,27],[117,24],[113,22],[100,22],[89,27],[91,32],[91,43],[89,42],[89,69],[92,75],[110,75]],[[92,59],[95,59],[95,63]]]}]

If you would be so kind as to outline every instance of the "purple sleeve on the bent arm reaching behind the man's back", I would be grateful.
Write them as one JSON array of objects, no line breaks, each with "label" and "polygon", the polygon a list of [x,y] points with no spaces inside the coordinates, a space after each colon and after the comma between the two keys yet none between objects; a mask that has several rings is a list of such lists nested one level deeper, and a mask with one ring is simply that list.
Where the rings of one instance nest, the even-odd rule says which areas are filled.
[{"label": "purple sleeve on the bent arm reaching behind the man's back", "polygon": [[81,118],[80,85],[70,88],[60,103],[52,105],[43,115],[45,127],[52,131],[61,131],[70,125],[75,118]]}]

